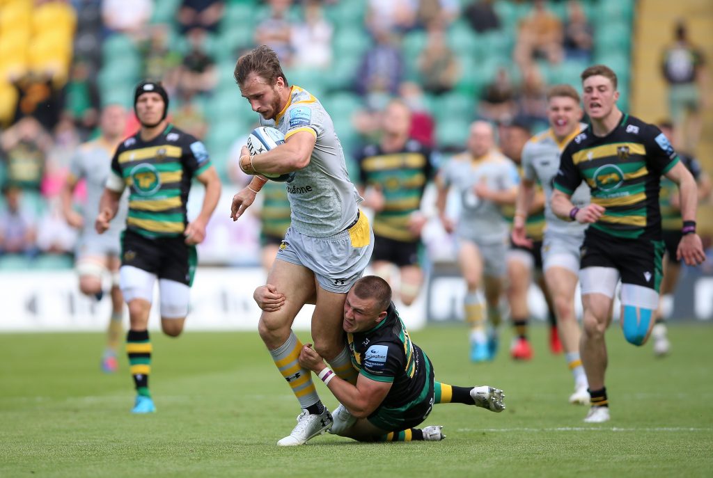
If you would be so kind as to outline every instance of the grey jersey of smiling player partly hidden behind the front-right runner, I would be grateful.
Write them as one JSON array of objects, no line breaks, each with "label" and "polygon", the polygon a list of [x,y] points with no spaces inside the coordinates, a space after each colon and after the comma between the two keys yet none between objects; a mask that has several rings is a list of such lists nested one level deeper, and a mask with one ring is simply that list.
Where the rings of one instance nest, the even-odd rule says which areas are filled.
[{"label": "grey jersey of smiling player partly hidden behind the front-right runner", "polygon": [[[580,124],[580,129],[573,133],[575,137],[587,125]],[[568,138],[571,139],[571,138]],[[569,141],[558,144],[552,129],[548,129],[531,138],[523,148],[523,177],[530,181],[539,181],[545,192],[545,222],[548,233],[580,234],[583,235],[587,224],[570,222],[560,219],[552,212],[552,191],[555,175],[560,169],[560,153]],[[582,182],[574,194],[572,202],[577,207],[585,207],[590,202],[590,189],[586,182]]]}]

